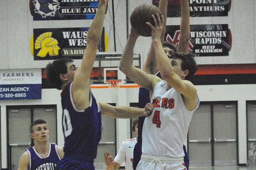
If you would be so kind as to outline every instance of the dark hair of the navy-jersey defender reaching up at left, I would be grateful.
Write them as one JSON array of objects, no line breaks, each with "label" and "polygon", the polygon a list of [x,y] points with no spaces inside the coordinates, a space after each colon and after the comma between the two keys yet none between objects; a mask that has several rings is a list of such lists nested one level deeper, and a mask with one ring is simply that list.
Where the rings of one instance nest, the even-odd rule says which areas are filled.
[{"label": "dark hair of the navy-jersey defender reaching up at left", "polygon": [[62,58],[47,64],[46,66],[46,79],[55,86],[58,90],[61,90],[63,82],[59,78],[60,74],[67,73],[67,63],[73,62],[70,58]]}]

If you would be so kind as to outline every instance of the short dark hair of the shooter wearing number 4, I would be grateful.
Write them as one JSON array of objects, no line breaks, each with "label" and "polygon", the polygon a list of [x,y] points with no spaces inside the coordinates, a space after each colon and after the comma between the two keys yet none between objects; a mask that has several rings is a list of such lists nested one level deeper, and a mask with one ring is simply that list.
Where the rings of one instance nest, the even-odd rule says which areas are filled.
[{"label": "short dark hair of the shooter wearing number 4", "polygon": [[186,76],[186,80],[190,80],[192,78],[192,76],[196,73],[198,67],[197,67],[197,63],[194,59],[195,55],[192,53],[183,53],[183,52],[174,52],[171,55],[171,58],[173,59],[181,59],[181,69],[184,70],[188,70],[188,75]]}]

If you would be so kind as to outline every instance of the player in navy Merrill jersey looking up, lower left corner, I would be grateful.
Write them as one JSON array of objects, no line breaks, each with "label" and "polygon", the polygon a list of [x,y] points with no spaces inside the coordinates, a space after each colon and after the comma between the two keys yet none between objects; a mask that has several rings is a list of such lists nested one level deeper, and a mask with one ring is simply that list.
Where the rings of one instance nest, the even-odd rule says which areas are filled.
[{"label": "player in navy Merrill jersey looking up, lower left corner", "polygon": [[47,122],[41,119],[33,121],[30,133],[34,146],[21,155],[18,170],[56,170],[64,152],[61,146],[48,142],[50,131]]}]

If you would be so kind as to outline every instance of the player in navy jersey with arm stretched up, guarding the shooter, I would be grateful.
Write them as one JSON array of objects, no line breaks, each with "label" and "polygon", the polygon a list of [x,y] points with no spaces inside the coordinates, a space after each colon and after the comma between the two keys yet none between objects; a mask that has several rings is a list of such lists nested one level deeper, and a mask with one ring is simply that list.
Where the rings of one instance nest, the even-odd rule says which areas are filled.
[{"label": "player in navy jersey with arm stretched up, guarding the shooter", "polygon": [[77,68],[69,58],[55,60],[46,66],[47,79],[62,89],[64,158],[58,170],[94,170],[94,159],[102,134],[102,114],[115,118],[148,115],[154,105],[145,109],[114,107],[98,103],[90,90],[90,74],[102,36],[104,15],[109,0],[100,0],[96,16],[87,34],[87,47]]}]

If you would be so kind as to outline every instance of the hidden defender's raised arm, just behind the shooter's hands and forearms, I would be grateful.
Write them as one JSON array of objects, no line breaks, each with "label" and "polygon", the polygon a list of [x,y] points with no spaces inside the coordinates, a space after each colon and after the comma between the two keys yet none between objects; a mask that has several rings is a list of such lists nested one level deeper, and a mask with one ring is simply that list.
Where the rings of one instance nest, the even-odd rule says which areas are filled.
[{"label": "hidden defender's raised arm, just behind the shooter's hands and forearms", "polygon": [[[168,6],[168,0],[160,0],[158,7],[164,16],[163,32],[161,34],[162,43],[164,42],[165,32],[166,32],[167,6]],[[151,43],[150,49],[148,50],[147,60],[143,65],[143,70],[148,74],[154,74],[158,71],[153,43]]]}]

